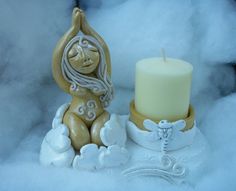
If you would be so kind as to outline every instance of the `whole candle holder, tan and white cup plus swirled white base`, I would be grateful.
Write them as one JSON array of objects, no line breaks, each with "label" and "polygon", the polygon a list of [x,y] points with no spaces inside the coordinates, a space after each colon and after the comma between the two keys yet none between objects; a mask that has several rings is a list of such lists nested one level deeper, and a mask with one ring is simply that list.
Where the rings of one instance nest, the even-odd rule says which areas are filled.
[{"label": "whole candle holder, tan and white cup plus swirled white base", "polygon": [[207,143],[196,126],[191,105],[185,119],[169,122],[142,115],[131,101],[126,128],[137,144],[132,147],[137,154],[131,159],[134,165],[123,171],[125,176],[158,176],[179,184],[206,159]]}]

